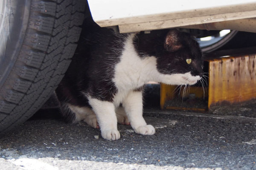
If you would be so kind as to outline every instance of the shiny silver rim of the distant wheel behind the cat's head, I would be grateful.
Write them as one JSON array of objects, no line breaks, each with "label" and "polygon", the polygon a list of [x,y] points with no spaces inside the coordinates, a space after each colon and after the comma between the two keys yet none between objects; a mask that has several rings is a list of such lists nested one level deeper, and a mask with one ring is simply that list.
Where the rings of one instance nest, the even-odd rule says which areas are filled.
[{"label": "shiny silver rim of the distant wheel behind the cat's head", "polygon": [[[226,31],[226,30],[222,30]],[[203,52],[209,53],[211,51],[214,51],[218,48],[221,48],[223,45],[225,45],[227,42],[229,42],[238,31],[232,30],[227,34],[224,34],[221,36],[221,31],[217,36],[209,36],[204,38],[209,38],[209,40],[205,40],[204,38],[197,38],[197,41],[202,49]]]}]

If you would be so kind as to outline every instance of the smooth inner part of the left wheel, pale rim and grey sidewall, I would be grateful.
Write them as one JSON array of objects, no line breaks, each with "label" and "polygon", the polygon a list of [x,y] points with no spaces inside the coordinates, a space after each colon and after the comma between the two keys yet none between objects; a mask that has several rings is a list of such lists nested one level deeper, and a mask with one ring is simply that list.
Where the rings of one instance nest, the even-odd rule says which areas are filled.
[{"label": "smooth inner part of the left wheel, pale rim and grey sidewall", "polygon": [[2,87],[15,64],[25,36],[30,0],[0,0],[0,4],[3,13],[3,20],[0,23],[0,87]]}]

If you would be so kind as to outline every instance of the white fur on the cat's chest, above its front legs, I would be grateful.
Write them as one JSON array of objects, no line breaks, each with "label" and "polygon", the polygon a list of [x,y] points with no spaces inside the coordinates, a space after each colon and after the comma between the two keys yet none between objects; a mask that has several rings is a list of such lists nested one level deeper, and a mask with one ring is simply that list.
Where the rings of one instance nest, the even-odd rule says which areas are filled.
[{"label": "white fur on the cat's chest, above its front legs", "polygon": [[139,57],[133,45],[133,38],[134,35],[131,34],[126,40],[120,62],[115,66],[113,82],[118,91],[123,92],[120,96],[127,94],[127,91],[140,88],[148,81],[154,81],[157,74],[156,58]]}]

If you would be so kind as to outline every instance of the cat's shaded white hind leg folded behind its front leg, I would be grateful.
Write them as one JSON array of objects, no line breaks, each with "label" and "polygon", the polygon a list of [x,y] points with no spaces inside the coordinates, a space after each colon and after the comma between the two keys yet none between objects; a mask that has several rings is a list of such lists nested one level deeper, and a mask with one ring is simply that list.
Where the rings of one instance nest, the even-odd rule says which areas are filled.
[{"label": "cat's shaded white hind leg folded behind its front leg", "polygon": [[79,107],[71,104],[67,104],[67,106],[75,114],[74,123],[84,121],[91,127],[99,128],[96,114],[89,107]]}]

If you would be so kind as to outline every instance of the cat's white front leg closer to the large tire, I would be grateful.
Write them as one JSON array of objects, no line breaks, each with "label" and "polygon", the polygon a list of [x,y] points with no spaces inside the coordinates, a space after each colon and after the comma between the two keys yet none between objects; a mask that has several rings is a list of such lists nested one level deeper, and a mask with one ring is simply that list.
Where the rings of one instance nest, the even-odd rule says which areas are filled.
[{"label": "cat's white front leg closer to the large tire", "polygon": [[96,114],[102,137],[108,140],[117,140],[120,133],[117,130],[115,107],[112,102],[88,97],[89,103]]}]

